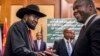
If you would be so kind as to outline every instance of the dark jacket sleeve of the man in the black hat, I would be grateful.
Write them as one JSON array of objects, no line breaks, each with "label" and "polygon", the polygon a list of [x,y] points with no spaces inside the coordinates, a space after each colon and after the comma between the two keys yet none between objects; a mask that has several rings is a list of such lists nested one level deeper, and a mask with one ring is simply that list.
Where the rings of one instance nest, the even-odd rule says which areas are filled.
[{"label": "dark jacket sleeve of the man in the black hat", "polygon": [[23,34],[18,27],[13,27],[9,33],[9,37],[11,37],[12,51],[16,56],[36,56],[33,51],[26,48]]}]

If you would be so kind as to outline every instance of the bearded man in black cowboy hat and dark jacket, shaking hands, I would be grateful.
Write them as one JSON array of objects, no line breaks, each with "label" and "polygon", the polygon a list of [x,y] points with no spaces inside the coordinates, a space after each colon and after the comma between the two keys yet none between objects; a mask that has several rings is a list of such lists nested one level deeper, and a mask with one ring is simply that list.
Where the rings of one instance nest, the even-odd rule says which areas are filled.
[{"label": "bearded man in black cowboy hat and dark jacket, shaking hands", "polygon": [[21,21],[14,23],[10,27],[3,56],[39,56],[40,53],[35,53],[32,49],[28,30],[34,30],[38,19],[46,15],[40,12],[38,6],[31,4],[19,9],[16,16]]}]

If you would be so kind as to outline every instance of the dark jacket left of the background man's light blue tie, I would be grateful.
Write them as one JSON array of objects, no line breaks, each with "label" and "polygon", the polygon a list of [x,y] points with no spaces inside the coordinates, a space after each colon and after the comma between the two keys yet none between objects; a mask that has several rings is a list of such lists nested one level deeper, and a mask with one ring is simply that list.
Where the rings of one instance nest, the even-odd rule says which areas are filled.
[{"label": "dark jacket left of the background man's light blue tie", "polygon": [[64,39],[60,39],[54,42],[53,49],[56,50],[56,54],[59,56],[68,56],[67,48]]}]

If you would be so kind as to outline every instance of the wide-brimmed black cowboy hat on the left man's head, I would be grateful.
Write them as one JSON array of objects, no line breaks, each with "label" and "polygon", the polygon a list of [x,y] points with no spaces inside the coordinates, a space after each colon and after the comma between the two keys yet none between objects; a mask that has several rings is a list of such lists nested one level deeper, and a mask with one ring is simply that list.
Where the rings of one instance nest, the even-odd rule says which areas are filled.
[{"label": "wide-brimmed black cowboy hat on the left man's head", "polygon": [[17,11],[16,16],[19,18],[23,18],[25,14],[35,14],[38,17],[45,17],[46,15],[40,12],[39,7],[37,5],[30,4],[24,8],[21,8]]}]

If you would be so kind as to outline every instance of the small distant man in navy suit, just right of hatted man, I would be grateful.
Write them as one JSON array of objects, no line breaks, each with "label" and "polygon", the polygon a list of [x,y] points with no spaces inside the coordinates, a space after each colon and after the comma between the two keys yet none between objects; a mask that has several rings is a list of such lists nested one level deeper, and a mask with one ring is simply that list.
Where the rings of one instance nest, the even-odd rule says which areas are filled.
[{"label": "small distant man in navy suit, just right of hatted man", "polygon": [[46,50],[46,43],[42,40],[42,34],[41,32],[37,32],[36,34],[36,40],[34,40],[34,51],[40,52]]}]

